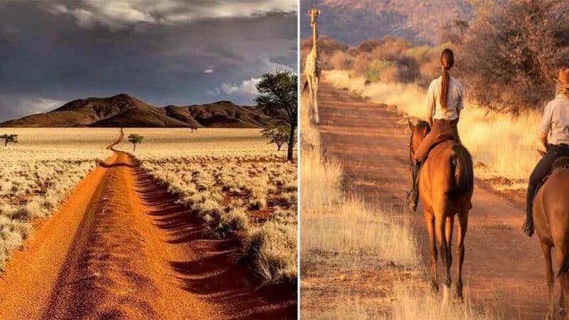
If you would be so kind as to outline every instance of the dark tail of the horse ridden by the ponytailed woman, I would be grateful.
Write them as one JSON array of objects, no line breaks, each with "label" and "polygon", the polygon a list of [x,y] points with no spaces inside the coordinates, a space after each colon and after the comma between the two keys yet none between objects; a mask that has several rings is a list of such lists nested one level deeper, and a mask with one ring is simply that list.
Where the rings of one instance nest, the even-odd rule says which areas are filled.
[{"label": "dark tail of the horse ridden by the ponytailed woman", "polygon": [[472,156],[461,144],[452,146],[450,166],[453,179],[453,187],[447,191],[449,198],[457,198],[471,191],[474,187],[474,170],[472,169]]}]

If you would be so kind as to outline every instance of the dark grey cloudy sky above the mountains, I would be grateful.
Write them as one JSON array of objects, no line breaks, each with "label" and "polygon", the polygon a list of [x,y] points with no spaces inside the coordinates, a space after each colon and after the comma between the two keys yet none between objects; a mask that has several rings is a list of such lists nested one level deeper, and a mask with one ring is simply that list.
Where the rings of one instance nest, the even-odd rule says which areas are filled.
[{"label": "dark grey cloudy sky above the mountains", "polygon": [[0,1],[0,121],[129,93],[153,105],[252,105],[297,70],[296,0]]}]

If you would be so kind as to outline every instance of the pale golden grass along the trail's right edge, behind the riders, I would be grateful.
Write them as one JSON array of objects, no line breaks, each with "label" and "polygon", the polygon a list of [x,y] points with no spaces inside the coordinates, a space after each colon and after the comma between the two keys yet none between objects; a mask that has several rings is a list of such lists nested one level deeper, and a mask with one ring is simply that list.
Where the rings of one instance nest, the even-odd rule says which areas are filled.
[{"label": "pale golden grass along the trail's right edge, behind the riders", "polygon": [[[349,78],[347,71],[339,70],[324,73],[324,78],[372,102],[396,105],[400,112],[427,119],[427,90],[418,85],[376,82],[365,86],[363,78]],[[467,101],[460,116],[459,134],[477,164],[477,177],[500,176],[511,182],[499,186],[503,189],[526,188],[538,161],[536,149],[541,147],[537,135],[540,117],[538,112],[518,116],[488,112]]]}]

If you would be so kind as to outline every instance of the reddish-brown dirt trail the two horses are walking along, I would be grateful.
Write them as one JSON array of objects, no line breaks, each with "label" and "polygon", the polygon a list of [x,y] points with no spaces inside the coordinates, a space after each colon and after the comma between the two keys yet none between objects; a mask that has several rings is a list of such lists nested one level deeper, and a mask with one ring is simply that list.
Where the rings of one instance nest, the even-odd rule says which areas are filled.
[{"label": "reddish-brown dirt trail the two horses are walking along", "polygon": [[[410,130],[403,117],[325,82],[319,88],[319,111],[324,149],[341,160],[349,186],[366,202],[394,209],[390,211],[394,218],[412,223],[426,267],[422,208],[411,213],[404,203],[409,188]],[[525,206],[502,198],[482,181],[474,188],[473,206],[464,271],[474,304],[501,309],[506,319],[543,319],[547,311],[545,267],[538,239],[521,232]]]}]

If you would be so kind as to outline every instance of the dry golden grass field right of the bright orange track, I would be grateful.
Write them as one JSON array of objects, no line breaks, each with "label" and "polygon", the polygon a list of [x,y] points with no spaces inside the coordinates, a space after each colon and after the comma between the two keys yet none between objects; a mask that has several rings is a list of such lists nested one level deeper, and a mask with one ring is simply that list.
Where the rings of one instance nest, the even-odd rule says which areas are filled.
[{"label": "dry golden grass field right of the bright orange track", "polygon": [[[125,129],[142,168],[208,224],[237,235],[265,284],[297,281],[297,165],[259,129]],[[129,144],[117,149],[132,151]]]}]

